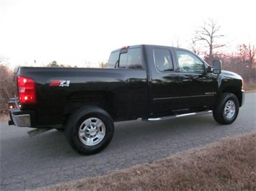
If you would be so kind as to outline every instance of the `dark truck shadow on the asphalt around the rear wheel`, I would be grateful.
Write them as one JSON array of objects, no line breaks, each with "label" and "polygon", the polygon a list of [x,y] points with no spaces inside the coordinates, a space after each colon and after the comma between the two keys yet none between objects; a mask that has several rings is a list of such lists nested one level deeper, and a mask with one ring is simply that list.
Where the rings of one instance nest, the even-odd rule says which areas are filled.
[{"label": "dark truck shadow on the asphalt around the rear wheel", "polygon": [[[172,143],[175,144],[175,147],[177,147],[176,144],[185,143],[187,146],[189,144],[193,146],[193,142],[198,141],[198,139],[209,139],[209,137],[214,136],[213,131],[218,132],[217,129],[223,128],[224,126],[216,124],[212,116],[176,118],[153,122],[141,121],[140,119],[118,122],[115,123],[115,134],[110,145],[96,155],[125,153],[128,150],[131,152],[136,148],[151,149],[152,145],[154,147],[159,145],[159,149],[161,149],[161,146],[170,146],[169,149],[172,149]],[[20,131],[24,131],[24,129]],[[66,154],[73,157],[82,156],[71,149],[63,132],[57,130],[51,130],[33,137],[25,135],[22,139],[16,137],[12,139],[18,144],[20,150],[25,150],[26,154],[32,156],[53,157],[65,156]],[[8,141],[12,141],[12,139],[8,139]]]}]

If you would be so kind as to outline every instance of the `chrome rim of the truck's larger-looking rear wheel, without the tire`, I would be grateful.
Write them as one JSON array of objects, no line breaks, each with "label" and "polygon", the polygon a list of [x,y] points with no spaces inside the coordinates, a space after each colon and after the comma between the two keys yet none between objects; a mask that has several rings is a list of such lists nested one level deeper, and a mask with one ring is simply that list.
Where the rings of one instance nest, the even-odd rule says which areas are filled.
[{"label": "chrome rim of the truck's larger-looking rear wheel, without the tire", "polygon": [[99,144],[105,134],[106,127],[100,118],[87,118],[79,127],[79,139],[87,146]]}]

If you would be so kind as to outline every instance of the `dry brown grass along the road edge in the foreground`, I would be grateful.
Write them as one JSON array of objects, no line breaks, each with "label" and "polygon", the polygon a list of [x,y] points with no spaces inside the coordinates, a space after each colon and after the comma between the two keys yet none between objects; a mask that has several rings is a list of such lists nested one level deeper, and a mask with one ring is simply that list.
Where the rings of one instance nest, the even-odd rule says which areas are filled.
[{"label": "dry brown grass along the road edge in the foreground", "polygon": [[39,190],[256,190],[256,132]]}]

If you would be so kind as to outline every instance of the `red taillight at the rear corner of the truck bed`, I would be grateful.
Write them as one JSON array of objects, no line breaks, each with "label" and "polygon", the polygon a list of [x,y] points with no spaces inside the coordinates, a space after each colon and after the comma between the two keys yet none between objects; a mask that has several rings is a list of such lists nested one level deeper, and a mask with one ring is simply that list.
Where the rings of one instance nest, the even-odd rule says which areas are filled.
[{"label": "red taillight at the rear corner of the truck bed", "polygon": [[35,80],[18,76],[18,90],[20,103],[35,103]]}]

